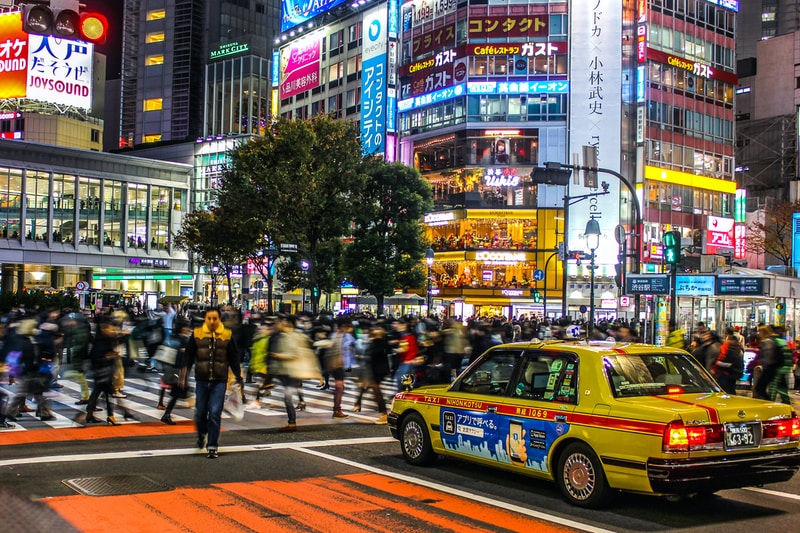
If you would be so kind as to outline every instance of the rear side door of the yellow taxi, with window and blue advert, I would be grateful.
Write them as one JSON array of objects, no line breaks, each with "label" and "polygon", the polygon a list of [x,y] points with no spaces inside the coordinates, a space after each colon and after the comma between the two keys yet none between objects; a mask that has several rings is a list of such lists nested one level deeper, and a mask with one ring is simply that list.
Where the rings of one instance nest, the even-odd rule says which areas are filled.
[{"label": "rear side door of the yellow taxi, with window and blue advert", "polygon": [[568,352],[528,350],[498,408],[497,460],[547,472],[553,443],[569,431],[577,403],[578,357]]}]

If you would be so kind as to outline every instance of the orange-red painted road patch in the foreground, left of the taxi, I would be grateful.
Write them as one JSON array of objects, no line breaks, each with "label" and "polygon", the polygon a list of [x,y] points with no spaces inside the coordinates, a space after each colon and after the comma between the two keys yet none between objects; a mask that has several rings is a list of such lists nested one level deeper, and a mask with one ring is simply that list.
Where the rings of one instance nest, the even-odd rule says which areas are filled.
[{"label": "orange-red painted road patch in the foreground, left of the taxi", "polygon": [[378,474],[45,500],[80,531],[536,531],[556,526]]}]

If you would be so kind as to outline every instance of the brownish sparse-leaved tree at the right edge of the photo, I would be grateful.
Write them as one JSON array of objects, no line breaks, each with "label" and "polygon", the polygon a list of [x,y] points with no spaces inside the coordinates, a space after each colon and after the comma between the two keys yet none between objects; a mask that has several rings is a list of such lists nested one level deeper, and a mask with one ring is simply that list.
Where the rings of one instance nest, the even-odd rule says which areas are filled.
[{"label": "brownish sparse-leaved tree at the right edge of the photo", "polygon": [[767,253],[783,265],[791,266],[793,223],[792,216],[800,212],[800,202],[775,202],[763,211],[763,217],[747,228],[747,251]]}]

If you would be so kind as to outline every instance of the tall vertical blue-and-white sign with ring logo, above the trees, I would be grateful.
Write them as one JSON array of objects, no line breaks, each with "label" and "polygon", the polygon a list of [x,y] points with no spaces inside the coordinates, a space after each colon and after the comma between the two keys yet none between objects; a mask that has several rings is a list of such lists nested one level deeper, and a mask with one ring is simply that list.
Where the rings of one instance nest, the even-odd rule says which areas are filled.
[{"label": "tall vertical blue-and-white sign with ring logo, above the trees", "polygon": [[364,51],[361,75],[361,148],[365,154],[386,149],[386,4],[364,13]]}]

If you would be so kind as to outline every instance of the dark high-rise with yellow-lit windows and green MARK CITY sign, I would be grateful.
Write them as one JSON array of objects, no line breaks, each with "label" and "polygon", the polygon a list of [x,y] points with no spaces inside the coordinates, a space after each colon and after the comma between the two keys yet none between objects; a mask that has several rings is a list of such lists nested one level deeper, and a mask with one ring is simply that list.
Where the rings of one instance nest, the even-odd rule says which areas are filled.
[{"label": "dark high-rise with yellow-lit windows and green MARK CITY sign", "polygon": [[125,0],[120,147],[259,134],[276,0]]}]

